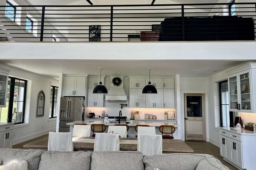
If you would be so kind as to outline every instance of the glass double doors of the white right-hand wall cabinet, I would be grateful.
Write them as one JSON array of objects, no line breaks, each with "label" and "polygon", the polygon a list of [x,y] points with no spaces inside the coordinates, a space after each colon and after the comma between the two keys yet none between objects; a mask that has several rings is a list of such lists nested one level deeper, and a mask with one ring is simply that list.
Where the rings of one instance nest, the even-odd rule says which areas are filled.
[{"label": "glass double doors of the white right-hand wall cabinet", "polygon": [[252,79],[252,69],[228,76],[230,111],[255,113]]}]

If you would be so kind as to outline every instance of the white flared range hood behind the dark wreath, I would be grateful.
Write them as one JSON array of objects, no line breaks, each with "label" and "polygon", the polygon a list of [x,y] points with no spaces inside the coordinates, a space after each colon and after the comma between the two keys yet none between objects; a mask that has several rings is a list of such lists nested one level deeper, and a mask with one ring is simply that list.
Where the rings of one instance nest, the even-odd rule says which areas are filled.
[{"label": "white flared range hood behind the dark wreath", "polygon": [[[115,86],[112,83],[113,78],[119,77],[122,79],[122,83],[120,86]],[[105,96],[105,100],[111,101],[127,101],[127,95],[124,92],[124,76],[110,76],[110,89],[108,90],[108,94]]]}]

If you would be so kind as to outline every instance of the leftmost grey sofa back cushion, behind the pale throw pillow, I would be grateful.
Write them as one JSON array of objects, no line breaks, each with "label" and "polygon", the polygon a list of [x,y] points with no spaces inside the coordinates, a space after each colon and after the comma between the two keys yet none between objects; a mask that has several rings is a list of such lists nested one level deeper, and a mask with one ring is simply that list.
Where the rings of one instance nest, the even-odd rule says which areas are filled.
[{"label": "leftmost grey sofa back cushion, behind the pale throw pillow", "polygon": [[28,170],[36,170],[43,150],[24,150],[24,149],[0,149],[1,165],[20,163],[26,160]]}]

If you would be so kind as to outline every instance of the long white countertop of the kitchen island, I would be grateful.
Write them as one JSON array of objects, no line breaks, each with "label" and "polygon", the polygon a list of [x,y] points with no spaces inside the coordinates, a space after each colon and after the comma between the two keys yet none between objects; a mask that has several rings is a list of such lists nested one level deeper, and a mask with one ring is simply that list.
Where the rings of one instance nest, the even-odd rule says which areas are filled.
[{"label": "long white countertop of the kitchen island", "polygon": [[[118,123],[104,123],[102,121],[72,121],[70,123],[67,123],[67,125],[74,125],[75,123],[86,123],[87,125],[91,124],[105,124],[106,126],[113,126]],[[120,123],[120,124],[126,124],[128,126],[135,126],[135,125],[149,125],[154,127],[160,127],[161,125],[173,125],[174,127],[180,127],[177,123],[164,123],[164,122],[136,122],[134,124],[131,123]]]}]

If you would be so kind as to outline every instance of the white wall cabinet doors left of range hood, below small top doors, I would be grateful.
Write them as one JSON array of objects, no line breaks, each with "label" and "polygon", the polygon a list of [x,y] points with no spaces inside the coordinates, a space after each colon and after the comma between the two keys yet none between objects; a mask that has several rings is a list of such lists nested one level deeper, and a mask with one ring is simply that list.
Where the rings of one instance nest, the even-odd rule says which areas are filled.
[{"label": "white wall cabinet doors left of range hood, below small top doors", "polygon": [[88,107],[103,107],[104,94],[93,94],[94,88],[88,88]]}]

